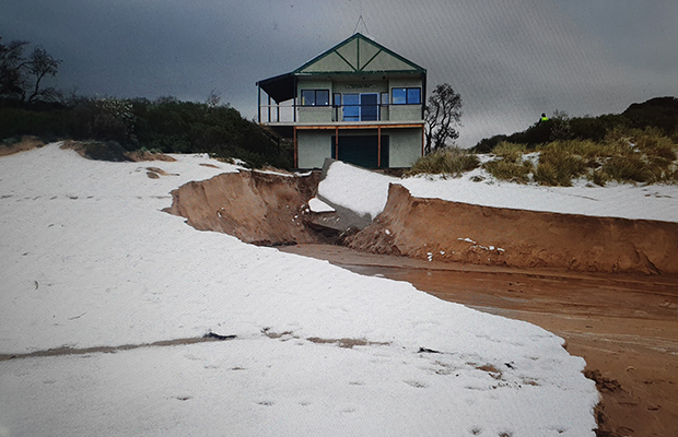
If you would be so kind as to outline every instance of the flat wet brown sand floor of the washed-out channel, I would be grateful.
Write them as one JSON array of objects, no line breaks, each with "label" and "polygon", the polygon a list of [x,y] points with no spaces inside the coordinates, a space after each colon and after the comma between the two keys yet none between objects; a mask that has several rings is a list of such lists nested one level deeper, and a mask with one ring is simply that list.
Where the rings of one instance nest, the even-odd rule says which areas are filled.
[{"label": "flat wet brown sand floor of the washed-out channel", "polygon": [[678,429],[678,277],[426,262],[299,245],[287,252],[408,281],[442,299],[526,320],[566,340],[603,395],[601,436]]}]

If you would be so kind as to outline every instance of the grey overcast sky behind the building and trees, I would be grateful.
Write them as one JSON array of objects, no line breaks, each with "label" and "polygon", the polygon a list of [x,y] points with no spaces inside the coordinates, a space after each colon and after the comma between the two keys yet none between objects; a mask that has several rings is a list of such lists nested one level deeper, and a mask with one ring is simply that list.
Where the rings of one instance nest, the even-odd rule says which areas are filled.
[{"label": "grey overcast sky behind the building and trees", "polygon": [[83,95],[221,93],[256,116],[255,82],[294,70],[359,27],[461,95],[458,143],[541,113],[621,113],[678,95],[676,0],[0,0],[0,37],[63,62]]}]

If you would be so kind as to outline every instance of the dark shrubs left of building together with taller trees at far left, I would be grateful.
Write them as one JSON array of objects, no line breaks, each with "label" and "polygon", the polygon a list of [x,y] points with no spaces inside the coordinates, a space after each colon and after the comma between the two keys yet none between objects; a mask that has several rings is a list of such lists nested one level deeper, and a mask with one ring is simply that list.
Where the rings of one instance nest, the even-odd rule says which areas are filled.
[{"label": "dark shrubs left of building together with taller trees at far left", "polygon": [[253,167],[291,168],[292,146],[276,142],[253,121],[214,93],[206,103],[174,97],[80,97],[45,85],[56,76],[60,60],[30,43],[0,37],[0,146],[19,143],[23,135],[43,142],[85,141],[92,156],[124,158],[125,152],[210,153],[241,158]]}]

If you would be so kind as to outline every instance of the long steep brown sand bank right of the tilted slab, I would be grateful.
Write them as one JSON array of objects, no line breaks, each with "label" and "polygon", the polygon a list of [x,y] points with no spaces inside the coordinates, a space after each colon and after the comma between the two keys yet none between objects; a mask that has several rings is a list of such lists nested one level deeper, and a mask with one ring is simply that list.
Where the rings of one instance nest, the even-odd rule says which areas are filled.
[{"label": "long steep brown sand bank right of the tilted slab", "polygon": [[349,246],[445,262],[678,273],[678,223],[418,199],[399,185],[390,186],[384,212]]}]

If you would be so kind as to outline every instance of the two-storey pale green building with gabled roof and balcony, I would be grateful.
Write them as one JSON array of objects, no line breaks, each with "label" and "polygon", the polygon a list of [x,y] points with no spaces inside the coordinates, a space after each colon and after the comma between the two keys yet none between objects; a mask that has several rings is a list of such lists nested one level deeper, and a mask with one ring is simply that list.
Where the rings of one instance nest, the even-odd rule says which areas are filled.
[{"label": "two-storey pale green building with gabled roof and balcony", "polygon": [[423,154],[426,70],[360,33],[257,86],[259,122],[293,139],[297,168],[409,167]]}]

